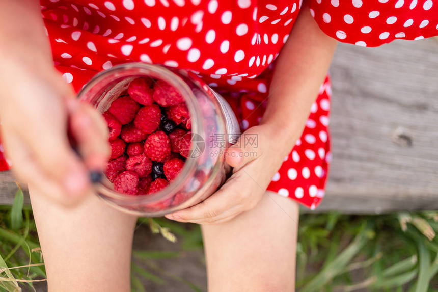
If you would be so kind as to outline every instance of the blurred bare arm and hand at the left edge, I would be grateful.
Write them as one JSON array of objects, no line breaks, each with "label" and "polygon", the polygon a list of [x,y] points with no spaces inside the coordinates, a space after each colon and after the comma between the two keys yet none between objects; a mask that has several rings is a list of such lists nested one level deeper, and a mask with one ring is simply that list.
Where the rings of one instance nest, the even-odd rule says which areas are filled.
[{"label": "blurred bare arm and hand at the left edge", "polygon": [[[0,120],[13,170],[63,203],[89,190],[109,152],[106,126],[53,67],[38,0],[0,1]],[[67,140],[67,119],[85,165]]]}]

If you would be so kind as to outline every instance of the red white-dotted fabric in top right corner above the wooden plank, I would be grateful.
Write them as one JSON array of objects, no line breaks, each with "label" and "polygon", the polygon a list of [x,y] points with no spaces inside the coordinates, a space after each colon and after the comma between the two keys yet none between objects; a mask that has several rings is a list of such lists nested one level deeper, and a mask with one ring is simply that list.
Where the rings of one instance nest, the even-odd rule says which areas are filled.
[{"label": "red white-dotted fabric in top right corner above the wooden plank", "polygon": [[[311,0],[322,31],[341,42],[379,46],[438,35],[438,0]],[[435,3],[434,3],[435,2]]]}]

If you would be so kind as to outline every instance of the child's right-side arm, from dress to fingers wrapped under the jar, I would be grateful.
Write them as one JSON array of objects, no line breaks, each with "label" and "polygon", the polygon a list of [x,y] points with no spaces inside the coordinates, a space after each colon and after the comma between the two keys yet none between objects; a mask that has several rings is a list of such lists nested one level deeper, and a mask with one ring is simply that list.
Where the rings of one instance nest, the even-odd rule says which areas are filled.
[{"label": "child's right-side arm, from dress to fingers wrapped under the jar", "polygon": [[[182,222],[220,223],[259,202],[284,157],[302,134],[335,47],[336,40],[318,28],[304,5],[276,61],[262,122],[245,131],[246,134],[258,135],[258,147],[231,147],[227,153],[227,162],[234,167],[231,178],[204,202],[168,218]],[[255,156],[243,158],[231,154],[253,151],[257,153]]]}]

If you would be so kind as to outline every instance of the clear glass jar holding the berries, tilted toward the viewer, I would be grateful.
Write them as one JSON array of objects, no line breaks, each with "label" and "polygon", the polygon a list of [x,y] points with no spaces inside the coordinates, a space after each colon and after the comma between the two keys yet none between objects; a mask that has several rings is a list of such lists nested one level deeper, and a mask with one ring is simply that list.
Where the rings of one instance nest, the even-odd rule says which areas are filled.
[{"label": "clear glass jar holding the berries, tilted toward the viewer", "polygon": [[81,101],[103,113],[139,77],[161,79],[184,97],[191,120],[191,149],[181,173],[168,187],[150,195],[116,192],[106,177],[95,185],[97,196],[139,216],[162,216],[193,206],[210,196],[225,181],[229,167],[225,150],[240,136],[230,105],[190,71],[145,63],[114,66],[97,74],[79,92]]}]

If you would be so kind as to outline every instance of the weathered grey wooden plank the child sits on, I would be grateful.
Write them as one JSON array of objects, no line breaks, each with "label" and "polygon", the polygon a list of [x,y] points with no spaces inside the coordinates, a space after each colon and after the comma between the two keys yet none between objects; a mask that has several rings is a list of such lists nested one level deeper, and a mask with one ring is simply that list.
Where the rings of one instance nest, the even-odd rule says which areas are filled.
[{"label": "weathered grey wooden plank the child sits on", "polygon": [[[438,209],[438,41],[340,44],[330,71],[333,163],[317,211]],[[0,173],[0,204],[15,191]]]}]

